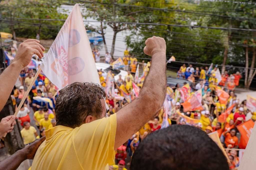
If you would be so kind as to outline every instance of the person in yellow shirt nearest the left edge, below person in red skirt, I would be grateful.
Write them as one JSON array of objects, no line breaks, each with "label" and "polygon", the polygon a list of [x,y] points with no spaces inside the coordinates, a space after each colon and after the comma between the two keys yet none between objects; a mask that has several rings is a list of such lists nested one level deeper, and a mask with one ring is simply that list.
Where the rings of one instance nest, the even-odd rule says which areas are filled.
[{"label": "person in yellow shirt nearest the left edge, below person in red skirt", "polygon": [[23,138],[24,145],[26,146],[36,140],[37,132],[36,128],[30,126],[29,122],[24,122],[23,125],[24,128],[20,131],[20,134]]}]

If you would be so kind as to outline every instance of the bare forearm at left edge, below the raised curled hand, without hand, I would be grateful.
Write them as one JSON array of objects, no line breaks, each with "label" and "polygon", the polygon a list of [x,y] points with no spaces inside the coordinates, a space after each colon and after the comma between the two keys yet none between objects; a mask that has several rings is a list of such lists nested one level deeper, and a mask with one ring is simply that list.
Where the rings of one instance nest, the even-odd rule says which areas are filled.
[{"label": "bare forearm at left edge, below the raised curled hand, without hand", "polygon": [[22,65],[13,61],[0,75],[0,111],[9,98],[22,68]]}]

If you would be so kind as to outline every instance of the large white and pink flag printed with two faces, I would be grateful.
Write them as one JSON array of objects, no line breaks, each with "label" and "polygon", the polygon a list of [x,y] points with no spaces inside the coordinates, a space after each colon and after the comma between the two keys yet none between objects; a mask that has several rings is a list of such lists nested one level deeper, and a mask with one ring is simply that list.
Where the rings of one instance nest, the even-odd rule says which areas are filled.
[{"label": "large white and pink flag printed with two faces", "polygon": [[74,82],[100,84],[78,4],[69,14],[40,67],[59,89]]}]

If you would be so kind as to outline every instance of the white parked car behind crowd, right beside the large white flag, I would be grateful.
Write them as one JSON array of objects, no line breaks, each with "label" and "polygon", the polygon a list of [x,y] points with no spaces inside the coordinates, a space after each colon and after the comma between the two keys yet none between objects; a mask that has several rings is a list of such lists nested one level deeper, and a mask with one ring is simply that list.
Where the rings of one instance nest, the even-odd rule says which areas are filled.
[{"label": "white parked car behind crowd, right beside the large white flag", "polygon": [[110,64],[107,64],[107,63],[96,62],[95,64],[96,64],[97,70],[102,70],[102,75],[105,78],[105,80],[109,70],[111,70],[111,72],[115,74],[114,75],[115,82],[119,79],[119,75],[121,75],[122,79],[124,80],[125,76],[128,74],[127,71],[124,71],[124,70],[117,70],[117,69],[113,70],[112,66],[110,66]]}]

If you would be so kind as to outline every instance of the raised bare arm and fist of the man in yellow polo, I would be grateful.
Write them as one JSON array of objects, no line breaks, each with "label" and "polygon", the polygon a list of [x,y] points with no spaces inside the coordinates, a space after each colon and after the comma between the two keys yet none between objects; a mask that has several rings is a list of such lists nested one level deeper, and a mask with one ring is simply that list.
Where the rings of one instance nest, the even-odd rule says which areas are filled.
[{"label": "raised bare arm and fist of the man in yellow polo", "polygon": [[[144,53],[152,56],[150,71],[139,96],[116,114],[114,149],[121,146],[162,107],[166,95],[166,44],[161,37],[145,42]],[[129,124],[129,126],[127,126]]]}]

